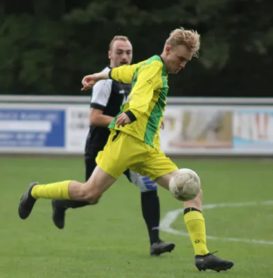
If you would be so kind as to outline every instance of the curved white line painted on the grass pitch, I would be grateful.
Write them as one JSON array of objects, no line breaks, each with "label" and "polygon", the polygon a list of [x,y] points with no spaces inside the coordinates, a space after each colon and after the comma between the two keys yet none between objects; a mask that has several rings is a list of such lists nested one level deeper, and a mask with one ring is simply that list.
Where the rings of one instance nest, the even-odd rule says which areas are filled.
[{"label": "curved white line painted on the grass pitch", "polygon": [[[206,209],[213,209],[213,208],[225,208],[225,207],[235,208],[235,207],[240,207],[240,206],[259,206],[259,205],[272,206],[273,201],[204,204],[202,207],[203,207],[203,210],[206,210]],[[175,211],[169,211],[160,223],[161,231],[166,231],[169,234],[176,234],[176,235],[179,235],[179,236],[188,236],[188,232],[186,232],[186,231],[177,231],[177,230],[170,227],[171,224],[173,224],[173,222],[175,222],[178,215],[180,213],[183,213],[183,212],[184,212],[183,208],[179,208]],[[248,239],[248,238],[218,238],[218,237],[215,237],[215,236],[206,236],[206,238],[213,239],[213,240],[233,241],[233,242],[237,242],[237,243],[253,243],[253,244],[273,245],[273,241],[256,240],[256,239]]]}]

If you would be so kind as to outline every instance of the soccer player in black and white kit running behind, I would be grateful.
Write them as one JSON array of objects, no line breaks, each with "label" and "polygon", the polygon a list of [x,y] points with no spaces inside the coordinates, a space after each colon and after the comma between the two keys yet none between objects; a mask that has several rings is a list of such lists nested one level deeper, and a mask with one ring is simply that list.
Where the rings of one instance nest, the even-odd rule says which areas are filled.
[{"label": "soccer player in black and white kit running behind", "polygon": [[[125,36],[115,36],[109,44],[109,67],[129,65],[132,61],[132,44]],[[108,67],[108,68],[109,68]],[[85,145],[85,179],[91,176],[96,167],[96,156],[103,150],[109,137],[108,126],[120,112],[130,94],[131,85],[107,79],[96,83],[91,94],[89,122],[90,128]],[[134,173],[129,169],[124,172],[127,179],[141,190],[141,208],[150,237],[150,254],[160,255],[171,252],[174,243],[165,243],[159,238],[160,207],[157,195],[157,183],[148,177]],[[80,208],[89,202],[75,200],[53,200],[53,222],[59,229],[64,228],[67,208]]]}]

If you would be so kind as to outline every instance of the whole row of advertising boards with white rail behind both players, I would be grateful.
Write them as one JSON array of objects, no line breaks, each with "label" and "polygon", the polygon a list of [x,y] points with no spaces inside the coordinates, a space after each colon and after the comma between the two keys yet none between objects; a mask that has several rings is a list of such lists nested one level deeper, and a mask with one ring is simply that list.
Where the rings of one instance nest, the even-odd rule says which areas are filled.
[{"label": "whole row of advertising boards with white rail behind both players", "polygon": [[[89,97],[0,101],[0,153],[84,154]],[[167,155],[273,156],[273,99],[170,98],[164,124]]]}]

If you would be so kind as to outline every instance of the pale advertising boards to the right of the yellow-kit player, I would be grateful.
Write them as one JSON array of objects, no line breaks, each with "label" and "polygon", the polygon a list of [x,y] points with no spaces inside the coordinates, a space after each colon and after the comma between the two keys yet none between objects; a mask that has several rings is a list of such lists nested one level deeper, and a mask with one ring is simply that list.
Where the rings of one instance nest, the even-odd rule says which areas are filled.
[{"label": "pale advertising boards to the right of the yellow-kit player", "polygon": [[272,106],[167,106],[166,154],[273,155]]}]

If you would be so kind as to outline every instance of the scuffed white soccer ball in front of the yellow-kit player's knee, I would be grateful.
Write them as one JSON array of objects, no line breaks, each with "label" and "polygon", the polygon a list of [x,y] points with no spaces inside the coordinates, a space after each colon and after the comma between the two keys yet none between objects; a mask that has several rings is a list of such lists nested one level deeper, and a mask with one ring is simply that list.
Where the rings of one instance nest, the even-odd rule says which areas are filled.
[{"label": "scuffed white soccer ball in front of the yellow-kit player's knee", "polygon": [[190,201],[200,192],[201,183],[198,175],[191,169],[179,169],[170,178],[169,190],[176,199]]}]

